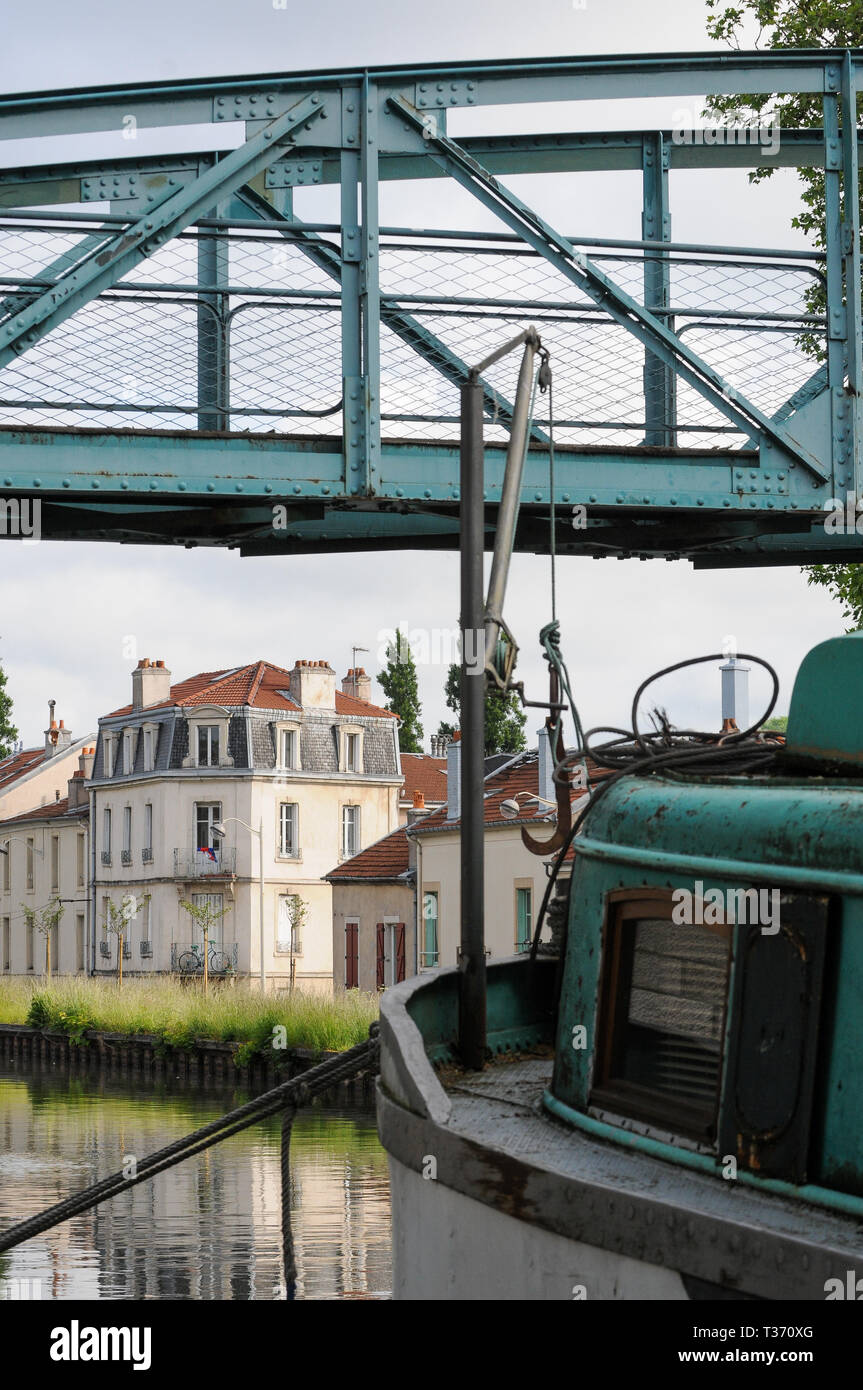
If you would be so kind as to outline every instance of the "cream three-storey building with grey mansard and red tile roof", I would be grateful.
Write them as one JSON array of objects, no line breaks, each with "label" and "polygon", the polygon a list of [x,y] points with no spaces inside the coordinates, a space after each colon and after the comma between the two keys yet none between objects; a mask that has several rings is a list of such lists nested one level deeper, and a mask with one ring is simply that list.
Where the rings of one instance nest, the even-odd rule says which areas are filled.
[{"label": "cream three-storey building with grey mansard and red tile roof", "polygon": [[[210,969],[332,988],[332,888],[322,874],[399,823],[397,720],[352,670],[254,662],[171,684],[132,673],[132,701],[99,721],[90,781],[90,969],[117,969],[108,902],[131,903],[124,969],[203,965],[183,902],[210,905]],[[220,834],[218,827],[224,827]],[[293,898],[304,906],[290,930]],[[263,913],[261,913],[263,909]],[[220,916],[221,913],[221,916]],[[263,931],[261,931],[263,926]]]}]

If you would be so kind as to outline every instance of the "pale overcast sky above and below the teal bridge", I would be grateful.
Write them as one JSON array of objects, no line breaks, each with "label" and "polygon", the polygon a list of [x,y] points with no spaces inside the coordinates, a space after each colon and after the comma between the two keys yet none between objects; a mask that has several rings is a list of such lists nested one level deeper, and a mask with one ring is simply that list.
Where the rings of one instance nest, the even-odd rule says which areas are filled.
[{"label": "pale overcast sky above and below the teal bridge", "polygon": [[[0,85],[14,92],[397,61],[687,51],[709,47],[703,15],[700,0],[586,0],[584,7],[573,0],[288,0],[286,8],[272,0],[42,0],[7,7]],[[466,121],[475,131],[528,129],[528,121],[531,129],[574,128],[577,120],[595,129],[670,125],[678,107],[510,107],[464,113],[450,129],[463,132]],[[635,189],[621,175],[510,182],[561,229],[639,235]],[[677,175],[671,195],[678,240],[802,245],[788,225],[796,206],[789,174],[753,190],[738,174]],[[332,215],[332,190],[306,197],[297,203],[303,215]],[[470,217],[472,225],[489,225],[466,199],[445,197],[439,183],[386,185],[382,220],[468,225]],[[459,612],[457,557],[434,553],[243,560],[203,549],[7,542],[0,585],[0,656],[28,744],[40,739],[49,698],[76,735],[92,731],[100,713],[129,698],[129,671],[140,656],[164,659],[176,680],[258,657],[283,666],[327,657],[342,676],[356,644],[370,648],[359,660],[377,671],[388,628],[450,630]],[[802,656],[844,630],[838,605],[794,569],[695,573],[682,562],[568,559],[559,562],[559,612],[588,726],[627,720],[645,674],[717,651],[727,634],[777,666],[784,712]],[[548,559],[516,556],[507,620],[534,698],[545,691],[536,635],[548,617]],[[438,644],[431,655],[449,653]],[[446,713],[445,674],[441,660],[420,669],[427,737]],[[657,698],[678,724],[714,727],[718,684],[718,673],[709,671],[668,682]],[[753,706],[764,689],[753,678]]]}]

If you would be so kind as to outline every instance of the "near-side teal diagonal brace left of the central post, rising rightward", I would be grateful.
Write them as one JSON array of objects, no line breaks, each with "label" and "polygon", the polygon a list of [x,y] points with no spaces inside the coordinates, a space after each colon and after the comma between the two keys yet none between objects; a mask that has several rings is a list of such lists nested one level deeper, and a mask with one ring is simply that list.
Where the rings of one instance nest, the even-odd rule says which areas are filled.
[{"label": "near-side teal diagonal brace left of the central post, rising rightward", "polygon": [[239,183],[267,168],[274,161],[278,147],[292,132],[320,115],[322,110],[324,100],[317,92],[303,97],[192,183],[157,207],[147,208],[136,222],[121,228],[107,245],[103,242],[86,260],[61,275],[50,289],[43,291],[31,304],[0,324],[0,367],[26,352],[104,289],[122,279],[129,270],[185,231],[197,217],[204,217]]}]

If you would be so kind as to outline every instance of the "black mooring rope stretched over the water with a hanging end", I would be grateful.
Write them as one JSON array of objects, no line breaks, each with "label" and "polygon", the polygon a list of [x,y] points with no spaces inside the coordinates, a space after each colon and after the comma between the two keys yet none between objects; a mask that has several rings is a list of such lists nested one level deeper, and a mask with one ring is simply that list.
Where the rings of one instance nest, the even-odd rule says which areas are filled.
[{"label": "black mooring rope stretched over the water with a hanging end", "polygon": [[290,1233],[290,1130],[293,1118],[300,1105],[304,1105],[314,1095],[328,1091],[338,1081],[350,1080],[363,1072],[374,1074],[379,1068],[379,1052],[378,1024],[372,1023],[368,1030],[367,1042],[359,1042],[356,1047],[349,1048],[347,1052],[339,1054],[339,1056],[318,1062],[317,1066],[310,1068],[302,1076],[282,1081],[281,1086],[274,1087],[271,1091],[264,1091],[263,1095],[256,1095],[254,1099],[246,1101],[245,1105],[233,1111],[228,1111],[227,1115],[221,1115],[217,1120],[203,1125],[200,1129],[193,1130],[192,1134],[185,1134],[182,1138],[165,1145],[165,1148],[160,1148],[156,1154],[149,1154],[147,1158],[143,1158],[138,1163],[132,1177],[126,1177],[122,1172],[111,1173],[110,1177],[103,1177],[101,1182],[85,1187],[83,1191],[75,1193],[72,1197],[65,1197],[61,1202],[47,1207],[36,1216],[31,1216],[17,1226],[10,1226],[0,1234],[0,1254],[13,1250],[15,1245],[21,1245],[25,1240],[32,1240],[33,1236],[40,1236],[42,1232],[50,1230],[51,1226],[58,1226],[72,1216],[79,1216],[82,1212],[99,1207],[100,1202],[108,1201],[111,1197],[117,1197],[131,1187],[136,1187],[138,1183],[154,1177],[156,1173],[161,1173],[167,1168],[174,1168],[175,1163],[182,1163],[186,1158],[203,1154],[204,1150],[220,1144],[224,1138],[239,1134],[242,1130],[249,1129],[250,1125],[257,1125],[258,1120],[282,1111],[282,1250],[285,1255],[288,1298],[293,1298],[296,1295],[296,1262]]}]

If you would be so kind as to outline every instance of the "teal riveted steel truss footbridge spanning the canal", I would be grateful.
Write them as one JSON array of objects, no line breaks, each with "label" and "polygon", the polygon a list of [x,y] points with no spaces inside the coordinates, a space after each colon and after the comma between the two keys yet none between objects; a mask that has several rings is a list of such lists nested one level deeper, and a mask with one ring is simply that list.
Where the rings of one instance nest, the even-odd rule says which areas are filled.
[{"label": "teal riveted steel truss footbridge spanning the canal", "polygon": [[[823,524],[831,498],[863,496],[844,197],[862,67],[860,50],[556,58],[0,99],[0,509],[39,499],[56,539],[457,546],[460,386],[532,322],[554,368],[560,553],[863,559]],[[529,132],[541,103],[703,93],[816,95],[823,125],[775,150],[743,132],[447,133],[479,107],[484,132],[513,106]],[[53,138],[92,150],[106,132],[110,158],[58,161]],[[24,164],[22,139],[51,161]],[[181,153],[145,153],[160,142]],[[824,250],[673,240],[673,171],[766,165],[824,171]],[[639,239],[574,238],[511,190],[554,175],[582,207],[598,170],[639,177]],[[418,179],[493,229],[382,224],[381,189]],[[295,214],[313,185],[332,185],[331,221]],[[510,356],[482,377],[489,543],[514,373]],[[517,549],[548,549],[549,503],[538,413]]]}]

